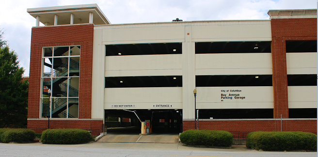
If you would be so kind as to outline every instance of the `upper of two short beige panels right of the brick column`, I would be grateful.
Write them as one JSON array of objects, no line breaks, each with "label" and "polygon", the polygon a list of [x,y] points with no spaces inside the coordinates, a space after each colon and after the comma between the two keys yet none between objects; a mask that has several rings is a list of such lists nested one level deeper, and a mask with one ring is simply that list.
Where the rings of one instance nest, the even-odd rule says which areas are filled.
[{"label": "upper of two short beige panels right of the brick column", "polygon": [[317,74],[317,52],[286,53],[287,74]]}]

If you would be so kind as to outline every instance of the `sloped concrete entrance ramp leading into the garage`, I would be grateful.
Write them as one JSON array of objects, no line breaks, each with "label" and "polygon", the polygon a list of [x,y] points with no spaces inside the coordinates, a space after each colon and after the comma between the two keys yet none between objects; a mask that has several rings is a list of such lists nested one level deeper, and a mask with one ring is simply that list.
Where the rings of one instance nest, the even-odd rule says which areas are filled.
[{"label": "sloped concrete entrance ramp leading into the garage", "polygon": [[179,135],[150,134],[150,135],[106,135],[97,142],[129,142],[129,143],[178,143]]}]

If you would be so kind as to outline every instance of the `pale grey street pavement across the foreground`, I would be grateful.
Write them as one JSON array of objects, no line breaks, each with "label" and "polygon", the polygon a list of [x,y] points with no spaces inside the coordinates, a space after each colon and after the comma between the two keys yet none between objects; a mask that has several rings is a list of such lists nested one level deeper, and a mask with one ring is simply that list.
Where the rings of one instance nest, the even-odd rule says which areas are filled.
[{"label": "pale grey street pavement across the foreground", "polygon": [[179,143],[0,143],[0,157],[317,157],[317,152],[265,152],[236,147],[198,148]]}]

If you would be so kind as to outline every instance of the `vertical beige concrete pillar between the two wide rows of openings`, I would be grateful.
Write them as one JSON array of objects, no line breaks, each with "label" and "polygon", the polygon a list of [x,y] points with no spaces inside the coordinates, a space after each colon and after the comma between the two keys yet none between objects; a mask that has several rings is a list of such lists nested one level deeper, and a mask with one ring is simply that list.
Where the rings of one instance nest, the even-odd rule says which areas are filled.
[{"label": "vertical beige concrete pillar between the two wide rows of openings", "polygon": [[191,26],[186,26],[185,30],[186,42],[182,43],[182,117],[194,119],[195,43],[191,42]]}]

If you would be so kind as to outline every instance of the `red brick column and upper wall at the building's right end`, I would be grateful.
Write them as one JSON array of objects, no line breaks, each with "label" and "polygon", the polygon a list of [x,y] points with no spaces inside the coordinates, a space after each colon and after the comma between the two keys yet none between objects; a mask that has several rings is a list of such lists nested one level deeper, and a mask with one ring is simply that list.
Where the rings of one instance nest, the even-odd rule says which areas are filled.
[{"label": "red brick column and upper wall at the building's right end", "polygon": [[274,118],[288,118],[286,40],[317,40],[317,18],[271,19]]}]

